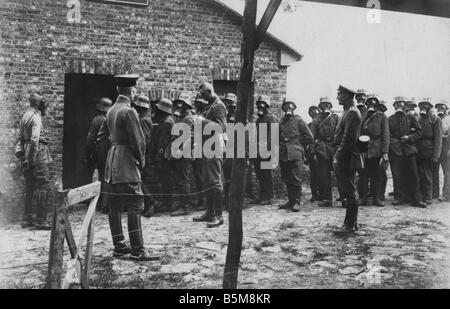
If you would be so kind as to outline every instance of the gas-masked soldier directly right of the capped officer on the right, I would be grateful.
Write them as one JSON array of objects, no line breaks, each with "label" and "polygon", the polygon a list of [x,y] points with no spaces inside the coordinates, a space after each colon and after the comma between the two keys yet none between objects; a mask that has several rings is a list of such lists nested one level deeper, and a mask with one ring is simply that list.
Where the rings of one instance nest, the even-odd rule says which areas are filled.
[{"label": "gas-masked soldier directly right of the capped officer on the right", "polygon": [[367,96],[367,117],[362,122],[361,135],[369,136],[370,141],[365,155],[364,169],[359,174],[360,206],[366,206],[369,198],[372,198],[374,206],[384,206],[379,200],[380,166],[383,162],[389,161],[389,123],[386,115],[377,111],[379,104],[380,101],[376,95]]}]

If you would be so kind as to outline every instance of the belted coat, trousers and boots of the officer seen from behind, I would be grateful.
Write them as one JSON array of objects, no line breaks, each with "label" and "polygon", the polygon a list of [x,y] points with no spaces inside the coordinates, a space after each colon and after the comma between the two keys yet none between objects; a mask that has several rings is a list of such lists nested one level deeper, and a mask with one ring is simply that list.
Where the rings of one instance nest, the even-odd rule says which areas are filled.
[{"label": "belted coat, trousers and boots of the officer seen from behind", "polygon": [[145,137],[135,109],[127,96],[119,95],[106,114],[111,138],[105,167],[108,184],[109,224],[115,253],[125,252],[121,209],[128,209],[128,234],[133,256],[144,254],[140,215],[144,210],[141,171],[145,167]]}]

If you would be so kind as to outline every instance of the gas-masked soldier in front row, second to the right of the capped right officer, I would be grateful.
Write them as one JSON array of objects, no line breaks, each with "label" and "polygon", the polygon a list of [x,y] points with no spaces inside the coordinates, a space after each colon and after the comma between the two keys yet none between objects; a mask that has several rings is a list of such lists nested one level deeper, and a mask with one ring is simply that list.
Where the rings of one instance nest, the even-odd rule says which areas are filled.
[{"label": "gas-masked soldier in front row, second to the right of the capped right officer", "polygon": [[389,122],[389,161],[394,183],[393,205],[406,202],[416,207],[426,207],[422,202],[417,171],[416,141],[422,136],[422,127],[416,118],[405,112],[406,99],[394,99],[395,112]]}]

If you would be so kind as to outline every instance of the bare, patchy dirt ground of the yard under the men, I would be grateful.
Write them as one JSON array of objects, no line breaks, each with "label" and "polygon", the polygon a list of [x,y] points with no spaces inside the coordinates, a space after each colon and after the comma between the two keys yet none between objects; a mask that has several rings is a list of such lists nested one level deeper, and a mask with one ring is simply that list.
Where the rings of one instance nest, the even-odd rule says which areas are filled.
[{"label": "bare, patchy dirt ground of the yard under the men", "polygon": [[[450,205],[386,203],[361,207],[360,231],[349,238],[332,233],[344,217],[337,205],[245,209],[239,288],[450,288]],[[70,214],[75,237],[84,214]],[[92,288],[221,288],[228,215],[223,226],[207,229],[192,222],[197,214],[143,218],[146,247],[162,258],[135,263],[112,258],[107,216],[97,213]],[[1,228],[0,287],[42,288],[49,239],[47,231]]]}]

